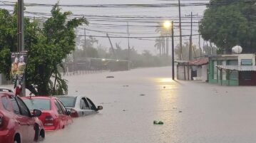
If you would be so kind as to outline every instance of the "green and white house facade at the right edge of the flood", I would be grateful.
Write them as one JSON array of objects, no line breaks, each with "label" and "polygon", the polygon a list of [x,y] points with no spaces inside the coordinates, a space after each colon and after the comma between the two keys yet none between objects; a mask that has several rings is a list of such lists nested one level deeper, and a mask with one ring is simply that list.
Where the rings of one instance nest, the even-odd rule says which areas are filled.
[{"label": "green and white house facade at the right edge of the flood", "polygon": [[210,56],[208,79],[220,85],[256,85],[255,54]]}]

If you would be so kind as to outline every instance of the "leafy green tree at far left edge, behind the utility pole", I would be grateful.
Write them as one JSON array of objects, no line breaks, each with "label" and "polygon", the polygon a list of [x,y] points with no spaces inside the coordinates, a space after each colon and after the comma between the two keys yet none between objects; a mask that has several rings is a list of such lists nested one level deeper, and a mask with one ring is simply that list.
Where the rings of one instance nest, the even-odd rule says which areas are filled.
[{"label": "leafy green tree at far left edge, behind the utility pole", "polygon": [[[24,47],[28,49],[36,43],[37,22],[24,18]],[[10,79],[11,53],[17,51],[17,5],[11,14],[6,9],[0,9],[0,73]]]}]

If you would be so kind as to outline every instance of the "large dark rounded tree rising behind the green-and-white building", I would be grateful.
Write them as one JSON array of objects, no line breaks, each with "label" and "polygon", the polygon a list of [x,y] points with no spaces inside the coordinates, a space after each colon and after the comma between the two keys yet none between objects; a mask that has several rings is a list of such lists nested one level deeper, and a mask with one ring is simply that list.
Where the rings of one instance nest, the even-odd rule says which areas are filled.
[{"label": "large dark rounded tree rising behind the green-and-white building", "polygon": [[245,53],[256,51],[256,5],[246,0],[211,0],[200,24],[206,41],[215,43],[222,53],[240,45]]}]

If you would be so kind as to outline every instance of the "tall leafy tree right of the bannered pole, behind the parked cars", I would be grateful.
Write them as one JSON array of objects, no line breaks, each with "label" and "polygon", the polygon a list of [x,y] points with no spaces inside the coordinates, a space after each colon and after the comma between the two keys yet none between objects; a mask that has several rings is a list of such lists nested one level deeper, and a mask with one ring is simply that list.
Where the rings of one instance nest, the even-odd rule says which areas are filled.
[{"label": "tall leafy tree right of the bannered pole, behind the parked cars", "polygon": [[71,12],[61,12],[58,4],[53,6],[51,14],[51,18],[43,23],[43,29],[37,36],[38,42],[32,44],[28,53],[26,88],[35,95],[66,94],[67,81],[61,78],[58,67],[63,67],[62,60],[75,49],[74,29],[88,23],[86,18],[67,21]]}]

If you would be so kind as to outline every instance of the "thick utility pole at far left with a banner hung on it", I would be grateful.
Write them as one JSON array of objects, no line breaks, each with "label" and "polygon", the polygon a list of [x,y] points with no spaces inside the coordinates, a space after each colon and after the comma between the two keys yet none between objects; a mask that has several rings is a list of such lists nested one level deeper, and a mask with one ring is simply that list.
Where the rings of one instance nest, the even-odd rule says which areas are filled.
[{"label": "thick utility pole at far left with a banner hung on it", "polygon": [[[18,48],[17,52],[24,51],[24,1],[18,0]],[[24,73],[21,86],[21,96],[26,95],[26,75]]]}]

